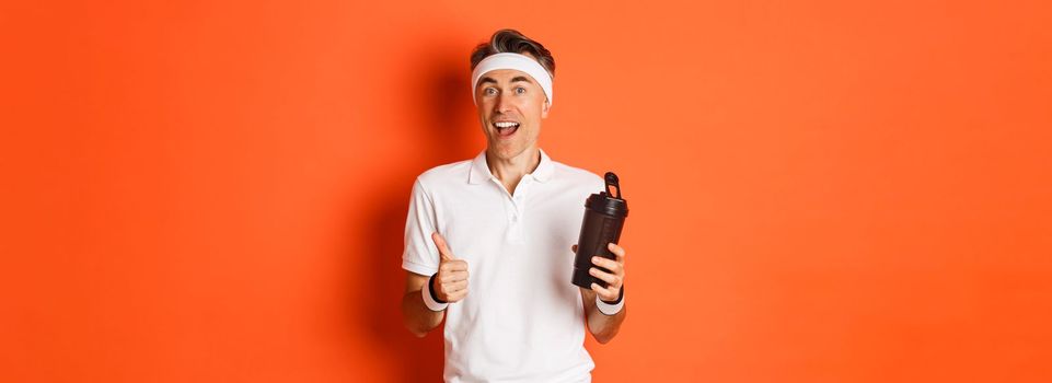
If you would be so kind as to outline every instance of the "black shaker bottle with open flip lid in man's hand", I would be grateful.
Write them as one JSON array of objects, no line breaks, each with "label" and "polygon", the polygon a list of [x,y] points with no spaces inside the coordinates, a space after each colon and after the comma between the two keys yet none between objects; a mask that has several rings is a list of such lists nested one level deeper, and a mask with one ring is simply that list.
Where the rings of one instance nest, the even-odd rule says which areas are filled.
[{"label": "black shaker bottle with open flip lid in man's hand", "polygon": [[[601,256],[616,259],[617,256],[606,248],[608,243],[617,243],[621,229],[628,217],[628,201],[621,197],[621,185],[617,175],[606,172],[606,190],[588,196],[585,201],[585,220],[581,222],[581,235],[577,240],[577,255],[574,257],[574,285],[591,289],[592,283],[606,287],[602,279],[592,277],[588,269],[592,268],[592,257]],[[617,194],[615,195],[614,192]],[[601,270],[605,270],[602,267]],[[610,271],[610,270],[605,270]]]}]

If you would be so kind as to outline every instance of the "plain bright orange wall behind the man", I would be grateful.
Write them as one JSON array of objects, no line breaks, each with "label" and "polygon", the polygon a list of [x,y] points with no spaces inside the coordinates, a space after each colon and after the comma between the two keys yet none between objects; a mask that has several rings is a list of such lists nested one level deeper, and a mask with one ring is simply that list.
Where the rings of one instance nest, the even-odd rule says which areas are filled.
[{"label": "plain bright orange wall behind the man", "polygon": [[0,381],[438,380],[402,230],[414,177],[483,149],[467,55],[499,27],[555,54],[542,148],[632,204],[597,381],[1052,381],[1050,20],[4,2]]}]

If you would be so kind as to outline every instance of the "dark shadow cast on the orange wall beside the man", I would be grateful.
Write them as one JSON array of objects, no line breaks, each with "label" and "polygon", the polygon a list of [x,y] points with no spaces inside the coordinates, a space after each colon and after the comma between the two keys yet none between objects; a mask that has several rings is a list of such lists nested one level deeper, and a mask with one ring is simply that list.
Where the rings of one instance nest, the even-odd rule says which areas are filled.
[{"label": "dark shadow cast on the orange wall beside the man", "polygon": [[[367,239],[368,243],[348,252],[367,248],[375,254],[363,257],[369,260],[357,272],[363,278],[346,280],[355,281],[350,290],[363,292],[366,312],[374,313],[356,315],[361,321],[359,325],[369,329],[369,341],[375,349],[388,352],[389,360],[404,362],[400,370],[403,375],[391,376],[393,381],[424,382],[442,376],[444,324],[423,339],[413,336],[402,324],[400,304],[406,271],[402,269],[401,255],[409,193],[416,176],[437,165],[471,159],[482,150],[476,148],[478,140],[472,135],[471,127],[475,124],[472,124],[471,114],[465,112],[473,109],[465,86],[469,83],[467,59],[454,54],[455,49],[435,50],[423,55],[426,59],[419,60],[426,65],[416,71],[419,78],[415,83],[421,89],[413,93],[425,98],[412,100],[412,104],[430,108],[418,114],[420,118],[416,124],[409,124],[408,129],[414,130],[412,137],[418,137],[424,149],[401,155],[403,166],[384,172],[383,179],[362,183],[361,186],[368,189],[359,190],[369,196],[367,200],[373,201],[372,208],[363,216],[368,222],[358,225],[365,228],[363,232],[356,235]],[[348,252],[345,253],[350,258],[362,258],[360,254]]]}]

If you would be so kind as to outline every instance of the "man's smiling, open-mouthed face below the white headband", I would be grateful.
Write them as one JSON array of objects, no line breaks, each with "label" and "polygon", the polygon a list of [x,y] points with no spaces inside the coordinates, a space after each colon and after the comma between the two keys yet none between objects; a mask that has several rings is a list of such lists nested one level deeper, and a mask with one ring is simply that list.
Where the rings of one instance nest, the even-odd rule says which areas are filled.
[{"label": "man's smiling, open-mouthed face below the white headband", "polygon": [[533,78],[515,69],[487,72],[475,88],[475,97],[490,154],[509,160],[536,147],[548,104]]}]

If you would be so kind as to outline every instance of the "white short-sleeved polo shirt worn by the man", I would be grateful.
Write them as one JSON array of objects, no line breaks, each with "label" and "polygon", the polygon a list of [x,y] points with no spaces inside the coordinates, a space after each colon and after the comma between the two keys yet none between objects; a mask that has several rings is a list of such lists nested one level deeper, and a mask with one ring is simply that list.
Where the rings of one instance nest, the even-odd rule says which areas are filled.
[{"label": "white short-sleeved polo shirt worn by the man", "polygon": [[591,381],[570,245],[585,199],[603,185],[544,151],[515,195],[489,172],[485,152],[417,177],[402,268],[438,271],[437,231],[470,275],[467,297],[446,312],[447,382]]}]

